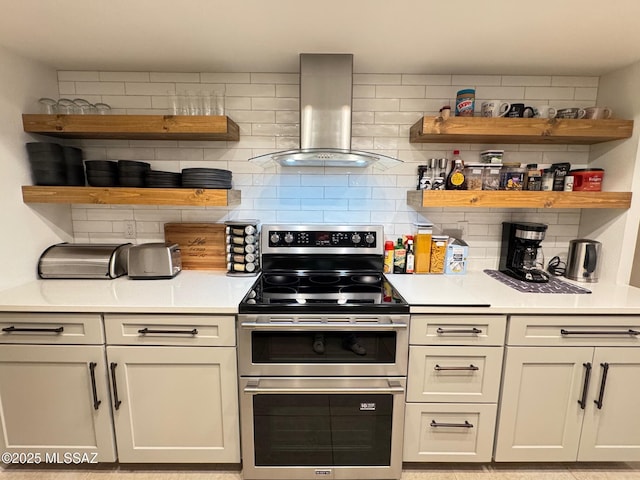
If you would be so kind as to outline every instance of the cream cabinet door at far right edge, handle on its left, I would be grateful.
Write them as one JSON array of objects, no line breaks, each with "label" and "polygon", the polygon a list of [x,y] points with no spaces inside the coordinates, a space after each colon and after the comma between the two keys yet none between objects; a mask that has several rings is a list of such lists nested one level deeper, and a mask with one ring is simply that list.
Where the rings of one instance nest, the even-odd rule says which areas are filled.
[{"label": "cream cabinet door at far right edge, handle on its left", "polygon": [[596,348],[578,460],[640,461],[639,407],[640,349]]}]

